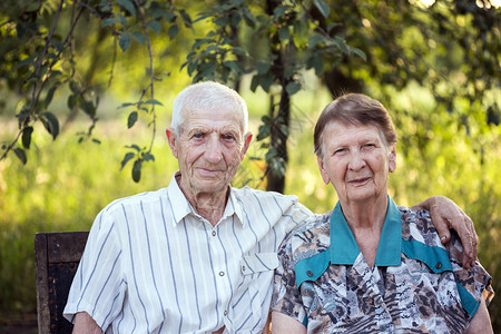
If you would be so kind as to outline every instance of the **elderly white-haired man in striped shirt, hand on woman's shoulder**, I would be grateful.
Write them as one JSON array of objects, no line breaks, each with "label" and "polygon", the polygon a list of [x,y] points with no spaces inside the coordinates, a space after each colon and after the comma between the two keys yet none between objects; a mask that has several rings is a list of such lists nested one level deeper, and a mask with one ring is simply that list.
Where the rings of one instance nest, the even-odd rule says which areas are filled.
[{"label": "elderly white-haired man in striped shirt, hand on woman's shoulder", "polygon": [[[312,213],[295,196],[230,187],[252,140],[247,118],[245,101],[223,85],[178,95],[167,138],[179,171],[167,188],[97,216],[65,308],[73,333],[263,331],[277,248]],[[470,262],[471,222],[446,198],[424,203],[439,204]],[[448,223],[434,219],[448,239]]]}]

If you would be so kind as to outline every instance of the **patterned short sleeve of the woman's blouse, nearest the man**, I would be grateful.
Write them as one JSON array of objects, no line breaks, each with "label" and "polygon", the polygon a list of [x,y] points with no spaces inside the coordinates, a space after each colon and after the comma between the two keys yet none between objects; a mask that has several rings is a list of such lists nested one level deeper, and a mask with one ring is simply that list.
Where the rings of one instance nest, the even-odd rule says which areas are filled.
[{"label": "patterned short sleeve of the woman's blouse, nearest the man", "polygon": [[286,238],[279,247],[278,262],[274,277],[272,311],[283,313],[304,323],[306,312],[296,286],[291,237]]}]

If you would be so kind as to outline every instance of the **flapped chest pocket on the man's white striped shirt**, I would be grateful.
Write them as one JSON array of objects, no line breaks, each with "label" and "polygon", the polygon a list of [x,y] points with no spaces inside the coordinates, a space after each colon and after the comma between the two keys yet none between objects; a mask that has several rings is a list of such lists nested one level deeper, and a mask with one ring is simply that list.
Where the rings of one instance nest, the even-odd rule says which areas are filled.
[{"label": "flapped chest pocket on the man's white striped shirt", "polygon": [[273,275],[278,266],[276,253],[253,253],[240,259],[242,281],[233,299],[233,324],[237,333],[263,328],[273,294]]}]

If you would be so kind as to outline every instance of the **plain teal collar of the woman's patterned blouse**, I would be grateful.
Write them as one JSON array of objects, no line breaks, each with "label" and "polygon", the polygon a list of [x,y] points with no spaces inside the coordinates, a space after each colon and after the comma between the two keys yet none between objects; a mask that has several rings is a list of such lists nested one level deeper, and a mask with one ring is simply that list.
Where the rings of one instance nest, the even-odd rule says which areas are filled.
[{"label": "plain teal collar of the woman's patterned blouse", "polygon": [[[401,213],[393,199],[390,196],[387,198],[386,218],[375,257],[376,266],[397,266],[401,264]],[[337,202],[331,215],[330,248],[331,263],[337,265],[353,265],[361,253],[355,237],[343,215],[340,202]]]}]

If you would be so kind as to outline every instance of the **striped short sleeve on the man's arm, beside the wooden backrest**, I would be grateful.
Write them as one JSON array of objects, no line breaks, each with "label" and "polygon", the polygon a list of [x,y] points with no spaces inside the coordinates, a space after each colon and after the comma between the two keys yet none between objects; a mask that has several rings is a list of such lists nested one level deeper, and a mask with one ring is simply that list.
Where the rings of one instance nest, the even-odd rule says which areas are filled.
[{"label": "striped short sleeve on the man's arm, beside the wooden backrest", "polygon": [[121,247],[116,222],[105,210],[90,229],[84,255],[73,277],[63,316],[75,322],[75,314],[87,312],[104,332],[121,312],[125,281]]}]

